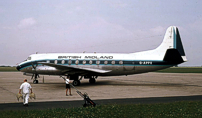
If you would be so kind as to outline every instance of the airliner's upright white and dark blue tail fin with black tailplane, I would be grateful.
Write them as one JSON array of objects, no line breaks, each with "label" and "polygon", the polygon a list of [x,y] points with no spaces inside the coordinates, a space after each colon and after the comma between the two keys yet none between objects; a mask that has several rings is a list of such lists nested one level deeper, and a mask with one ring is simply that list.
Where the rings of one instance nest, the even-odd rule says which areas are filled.
[{"label": "airliner's upright white and dark blue tail fin with black tailplane", "polygon": [[164,61],[176,64],[187,61],[178,28],[175,26],[167,29],[163,42],[156,50],[166,50]]}]

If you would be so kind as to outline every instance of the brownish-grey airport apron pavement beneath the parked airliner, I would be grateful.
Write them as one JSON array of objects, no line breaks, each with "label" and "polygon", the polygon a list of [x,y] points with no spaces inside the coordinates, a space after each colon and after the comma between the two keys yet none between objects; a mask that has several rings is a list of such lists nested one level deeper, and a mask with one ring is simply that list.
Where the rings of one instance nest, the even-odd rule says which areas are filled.
[{"label": "brownish-grey airport apron pavement beneath the parked airliner", "polygon": [[[151,98],[156,101],[153,98],[175,98],[178,96],[192,96],[191,98],[195,99],[195,96],[201,97],[201,75],[190,73],[145,73],[130,76],[99,77],[94,85],[89,84],[88,80],[82,80],[77,89],[82,93],[87,92],[92,100],[105,102],[111,100],[112,103],[113,100]],[[65,96],[65,82],[58,76],[40,76],[40,83],[32,84],[31,77],[24,76],[21,72],[0,72],[1,108],[2,106],[5,107],[5,105],[16,104],[18,106],[22,104],[22,100],[17,101],[16,94],[24,78],[27,78],[28,82],[31,83],[37,96],[36,100],[30,100],[30,107],[37,106],[37,104],[40,106],[39,104],[43,102],[45,106],[46,104],[57,104],[58,102],[83,104],[83,99],[74,89],[72,89],[73,96]]]}]

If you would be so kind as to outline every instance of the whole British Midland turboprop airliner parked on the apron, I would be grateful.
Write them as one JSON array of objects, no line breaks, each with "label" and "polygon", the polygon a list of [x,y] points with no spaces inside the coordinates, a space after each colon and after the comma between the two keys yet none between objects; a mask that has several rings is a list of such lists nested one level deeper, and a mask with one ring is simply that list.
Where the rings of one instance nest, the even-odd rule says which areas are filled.
[{"label": "whole British Midland turboprop airliner parked on the apron", "polygon": [[131,75],[176,66],[186,62],[178,28],[170,26],[163,42],[153,50],[118,53],[45,53],[32,54],[16,68],[24,75],[32,75],[38,83],[39,75],[69,76],[73,85],[82,78],[95,83],[98,76]]}]

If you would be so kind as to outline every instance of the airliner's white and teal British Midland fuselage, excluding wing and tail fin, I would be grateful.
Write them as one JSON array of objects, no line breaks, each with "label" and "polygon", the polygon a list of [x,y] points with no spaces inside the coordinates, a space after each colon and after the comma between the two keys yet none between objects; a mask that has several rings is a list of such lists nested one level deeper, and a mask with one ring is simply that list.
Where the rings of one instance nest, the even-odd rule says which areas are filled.
[{"label": "airliner's white and teal British Midland fuselage, excluding wing and tail fin", "polygon": [[[54,55],[54,56],[53,56]],[[52,57],[52,58],[51,58]],[[129,58],[127,58],[129,57]],[[130,75],[155,71],[174,66],[171,63],[161,60],[135,60],[134,54],[94,54],[94,53],[61,53],[61,54],[34,54],[20,65],[20,71],[26,73],[37,73],[46,75],[92,75],[92,76],[116,76]],[[37,58],[37,59],[32,59]],[[52,63],[75,68],[93,68],[99,70],[110,70],[107,73],[83,73],[58,70],[55,67],[37,64],[39,62]],[[33,69],[36,66],[36,69]]]}]

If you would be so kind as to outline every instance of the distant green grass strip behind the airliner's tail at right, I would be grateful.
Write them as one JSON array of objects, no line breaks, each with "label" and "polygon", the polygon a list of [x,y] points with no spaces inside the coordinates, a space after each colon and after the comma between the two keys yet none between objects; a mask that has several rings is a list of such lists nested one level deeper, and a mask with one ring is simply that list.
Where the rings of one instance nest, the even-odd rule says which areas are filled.
[{"label": "distant green grass strip behind the airliner's tail at right", "polygon": [[202,67],[171,67],[156,72],[163,73],[202,73]]}]

